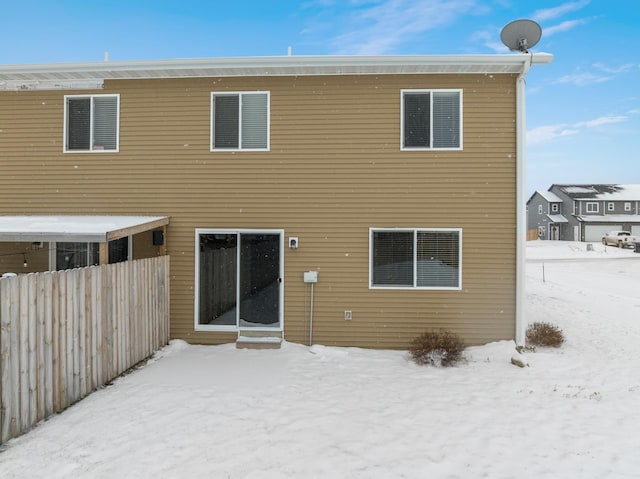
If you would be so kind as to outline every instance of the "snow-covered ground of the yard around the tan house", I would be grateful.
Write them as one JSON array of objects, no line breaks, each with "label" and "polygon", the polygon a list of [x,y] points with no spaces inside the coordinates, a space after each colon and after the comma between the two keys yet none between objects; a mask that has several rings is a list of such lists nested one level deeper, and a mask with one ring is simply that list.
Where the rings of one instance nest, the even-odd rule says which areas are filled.
[{"label": "snow-covered ground of the yard around the tan house", "polygon": [[[527,315],[567,337],[510,364],[173,341],[0,453],[9,478],[640,476],[640,254],[530,242]],[[543,281],[544,279],[544,281]]]}]

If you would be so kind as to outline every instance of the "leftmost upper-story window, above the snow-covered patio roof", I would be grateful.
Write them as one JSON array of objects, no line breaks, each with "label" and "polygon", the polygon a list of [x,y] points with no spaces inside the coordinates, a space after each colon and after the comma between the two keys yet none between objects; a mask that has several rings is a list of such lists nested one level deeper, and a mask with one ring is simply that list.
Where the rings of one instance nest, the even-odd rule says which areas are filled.
[{"label": "leftmost upper-story window, above the snow-covered patio roof", "polygon": [[120,95],[65,95],[64,151],[119,148]]}]

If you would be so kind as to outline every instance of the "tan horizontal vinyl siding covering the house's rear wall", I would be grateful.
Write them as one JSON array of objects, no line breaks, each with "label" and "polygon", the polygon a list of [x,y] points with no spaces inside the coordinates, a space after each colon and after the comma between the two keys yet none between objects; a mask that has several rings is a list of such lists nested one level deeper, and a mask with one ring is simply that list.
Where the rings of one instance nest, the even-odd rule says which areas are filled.
[{"label": "tan horizontal vinyl siding covering the house's rear wall", "polygon": [[[462,151],[400,151],[401,89],[462,89]],[[216,152],[212,91],[269,91],[270,151]],[[196,228],[284,229],[285,338],[406,347],[426,328],[469,344],[515,328],[515,76],[395,75],[107,81],[120,151],[63,149],[69,91],[0,92],[1,214],[168,215],[171,336],[194,331]],[[368,285],[369,228],[462,228],[461,291]],[[344,310],[353,311],[345,321]]]}]

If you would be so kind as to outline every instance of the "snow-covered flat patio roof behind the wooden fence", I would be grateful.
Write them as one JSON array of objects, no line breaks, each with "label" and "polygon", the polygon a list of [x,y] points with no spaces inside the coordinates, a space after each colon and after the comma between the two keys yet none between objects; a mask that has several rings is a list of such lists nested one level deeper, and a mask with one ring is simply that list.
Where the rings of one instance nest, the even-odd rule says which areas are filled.
[{"label": "snow-covered flat patio roof behind the wooden fence", "polygon": [[106,243],[167,224],[168,216],[0,216],[0,241]]}]

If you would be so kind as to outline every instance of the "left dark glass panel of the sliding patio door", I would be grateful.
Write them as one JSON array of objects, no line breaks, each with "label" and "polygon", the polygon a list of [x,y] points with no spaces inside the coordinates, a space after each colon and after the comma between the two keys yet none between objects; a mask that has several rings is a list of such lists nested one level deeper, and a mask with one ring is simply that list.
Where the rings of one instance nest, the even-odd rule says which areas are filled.
[{"label": "left dark glass panel of the sliding patio door", "polygon": [[200,324],[236,325],[238,237],[200,235]]}]

